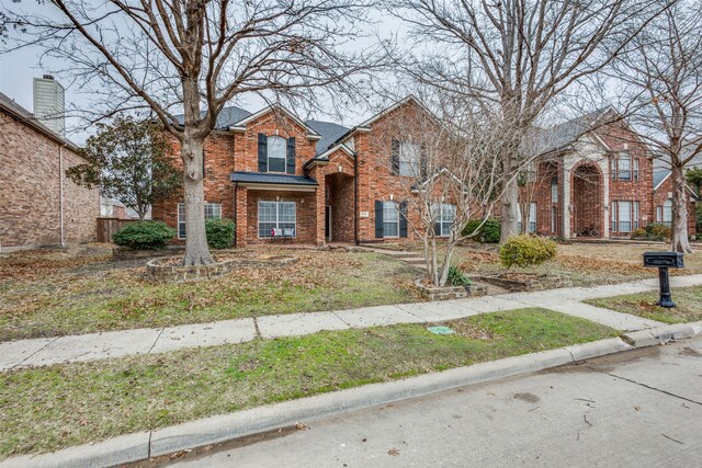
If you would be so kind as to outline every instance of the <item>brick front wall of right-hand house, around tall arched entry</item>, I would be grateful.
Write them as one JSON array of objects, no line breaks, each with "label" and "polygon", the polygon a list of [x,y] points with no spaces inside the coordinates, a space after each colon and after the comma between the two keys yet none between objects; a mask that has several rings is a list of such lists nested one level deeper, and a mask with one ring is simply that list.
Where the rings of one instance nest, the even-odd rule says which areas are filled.
[{"label": "brick front wall of right-hand house, around tall arched entry", "polygon": [[[634,228],[656,220],[656,206],[663,204],[661,193],[669,189],[661,187],[654,193],[653,160],[633,130],[622,123],[604,125],[581,136],[571,148],[540,163],[535,180],[520,189],[522,204],[536,203],[537,233],[570,238],[597,233],[600,238],[624,238]],[[629,180],[620,176],[618,163],[618,158],[626,155],[632,161]],[[557,178],[557,202],[552,197],[554,178]],[[627,226],[626,222],[613,222],[626,219],[618,214],[620,203],[631,206],[629,231],[620,230]],[[690,235],[693,235],[694,202],[690,201],[689,209],[692,213]]]}]

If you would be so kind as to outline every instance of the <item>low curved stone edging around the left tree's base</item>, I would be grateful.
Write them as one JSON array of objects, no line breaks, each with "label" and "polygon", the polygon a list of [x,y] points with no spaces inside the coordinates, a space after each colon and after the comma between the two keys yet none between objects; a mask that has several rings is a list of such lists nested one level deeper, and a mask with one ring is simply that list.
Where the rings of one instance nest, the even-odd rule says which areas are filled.
[{"label": "low curved stone edging around the left tree's base", "polygon": [[146,273],[149,281],[155,283],[186,283],[204,279],[214,279],[231,272],[240,266],[282,266],[296,263],[297,256],[251,256],[225,260],[223,262],[211,263],[208,265],[178,265],[160,264],[169,262],[177,256],[168,259],[152,259],[146,263]]}]

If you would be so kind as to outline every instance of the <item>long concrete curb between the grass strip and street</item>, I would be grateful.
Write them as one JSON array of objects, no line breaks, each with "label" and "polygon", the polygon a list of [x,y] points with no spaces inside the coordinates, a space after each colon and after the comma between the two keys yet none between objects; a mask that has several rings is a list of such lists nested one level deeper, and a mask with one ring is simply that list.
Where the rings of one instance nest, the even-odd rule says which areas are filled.
[{"label": "long concrete curb between the grass strip and street", "polygon": [[0,461],[0,467],[110,467],[251,436],[354,410],[387,404],[439,391],[482,384],[573,364],[608,354],[665,344],[702,334],[702,321],[658,327],[585,344],[523,354],[403,380],[371,384],[215,415],[156,431],[144,431],[50,454],[24,455]]}]

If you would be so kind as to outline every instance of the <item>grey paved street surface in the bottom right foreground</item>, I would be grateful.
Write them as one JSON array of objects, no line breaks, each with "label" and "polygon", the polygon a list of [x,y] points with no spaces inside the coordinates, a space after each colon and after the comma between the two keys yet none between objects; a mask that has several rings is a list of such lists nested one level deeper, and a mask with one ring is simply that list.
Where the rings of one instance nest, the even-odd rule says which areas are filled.
[{"label": "grey paved street surface in the bottom right foreground", "polygon": [[[184,467],[702,466],[702,338],[303,421]],[[160,464],[159,464],[160,465]]]}]

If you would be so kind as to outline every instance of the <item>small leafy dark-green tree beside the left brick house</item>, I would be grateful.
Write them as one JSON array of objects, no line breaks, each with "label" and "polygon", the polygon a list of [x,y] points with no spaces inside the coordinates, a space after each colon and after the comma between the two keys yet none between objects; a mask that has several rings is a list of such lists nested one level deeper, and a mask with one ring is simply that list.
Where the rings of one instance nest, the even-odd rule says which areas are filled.
[{"label": "small leafy dark-green tree beside the left brick house", "polygon": [[98,127],[82,150],[87,162],[69,168],[66,175],[79,185],[100,187],[102,195],[133,208],[143,220],[149,206],[171,195],[183,180],[166,156],[163,133],[131,116]]}]

